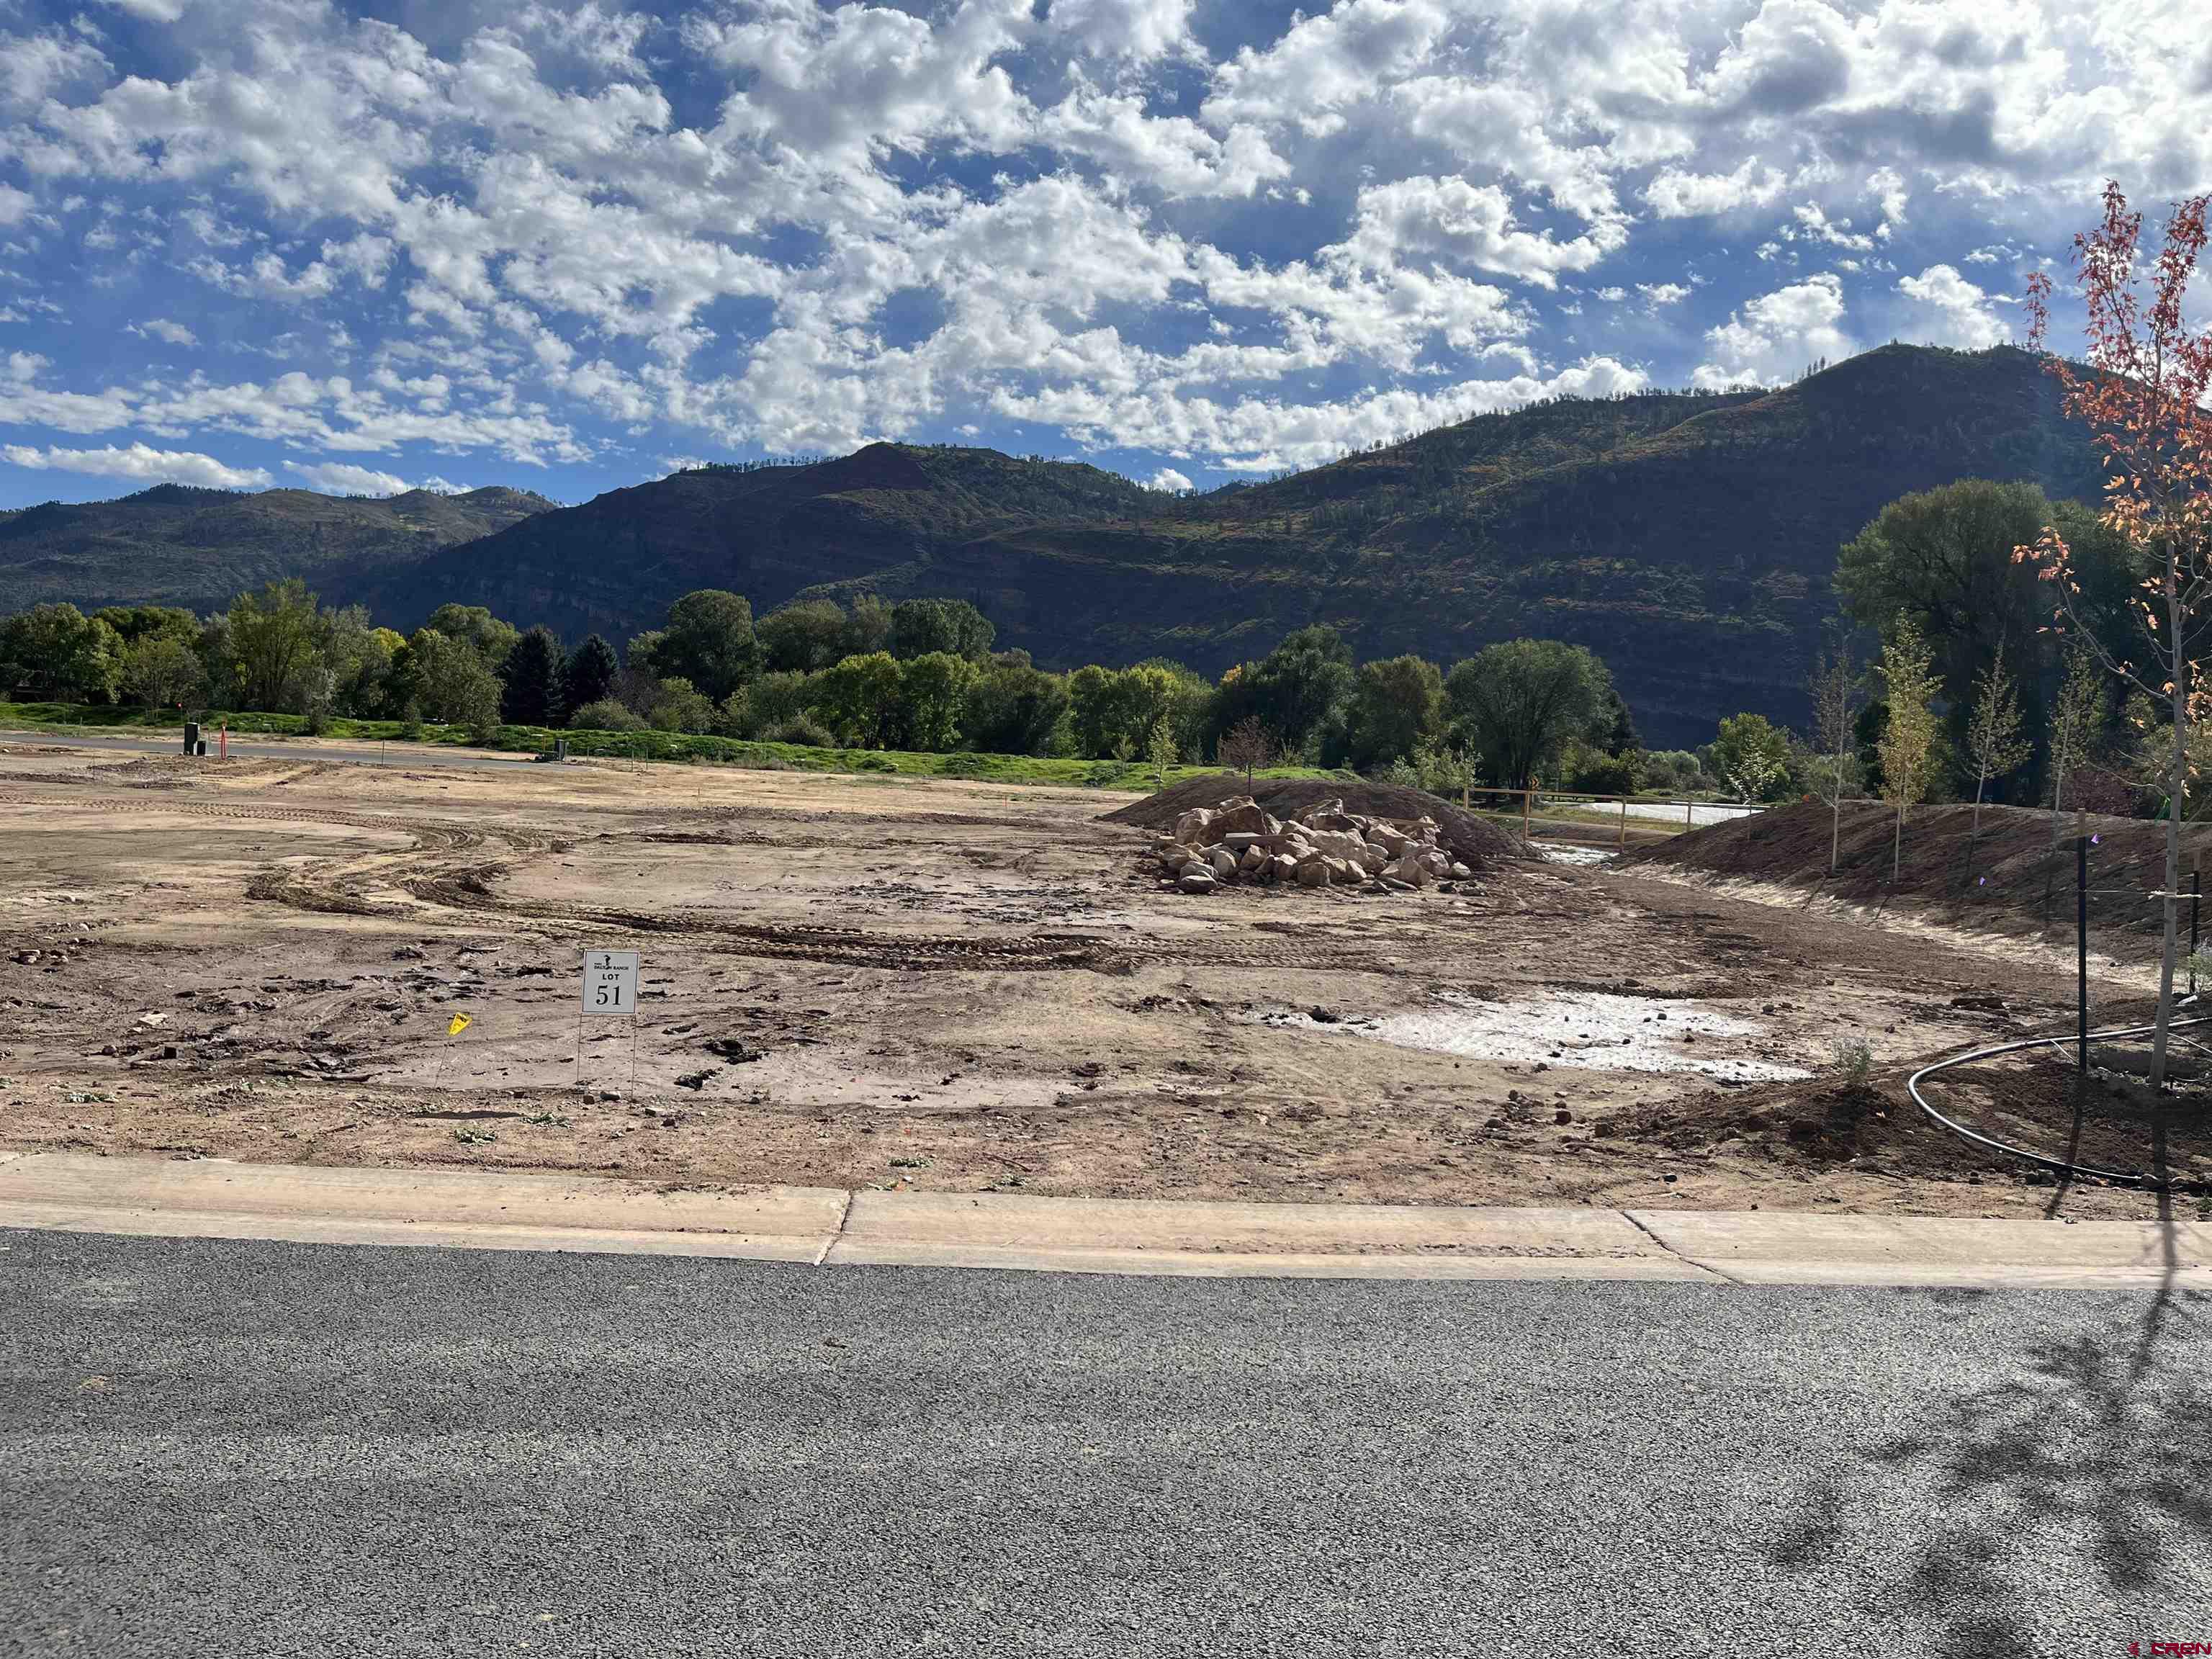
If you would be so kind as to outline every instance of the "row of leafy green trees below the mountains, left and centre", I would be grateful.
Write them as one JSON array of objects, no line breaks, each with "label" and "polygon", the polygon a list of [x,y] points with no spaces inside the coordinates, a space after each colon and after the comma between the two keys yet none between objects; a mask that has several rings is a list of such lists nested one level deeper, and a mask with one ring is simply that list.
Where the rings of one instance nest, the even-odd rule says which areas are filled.
[{"label": "row of leafy green trees below the mountains, left and centre", "polygon": [[622,650],[573,648],[482,606],[380,628],[301,582],[241,593],[212,617],[166,606],[84,615],[42,604],[0,619],[0,688],[66,703],[712,732],[925,752],[1181,759],[1237,754],[1458,781],[1637,787],[1646,757],[1606,666],[1555,639],[1486,646],[1449,670],[1356,661],[1329,626],[1290,633],[1219,679],[1168,659],[1071,672],[995,650],[964,599],[805,599],[754,617],[706,588]]}]

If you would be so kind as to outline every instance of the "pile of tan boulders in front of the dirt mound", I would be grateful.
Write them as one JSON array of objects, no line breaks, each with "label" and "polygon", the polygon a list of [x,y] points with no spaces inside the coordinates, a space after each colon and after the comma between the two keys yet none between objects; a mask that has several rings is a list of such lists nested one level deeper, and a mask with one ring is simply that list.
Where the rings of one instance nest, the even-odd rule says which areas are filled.
[{"label": "pile of tan boulders in front of the dirt mound", "polygon": [[1252,796],[1199,807],[1152,845],[1161,874],[1186,894],[1234,880],[1298,887],[1376,885],[1402,894],[1473,872],[1438,843],[1436,818],[1369,818],[1323,801],[1287,823]]}]

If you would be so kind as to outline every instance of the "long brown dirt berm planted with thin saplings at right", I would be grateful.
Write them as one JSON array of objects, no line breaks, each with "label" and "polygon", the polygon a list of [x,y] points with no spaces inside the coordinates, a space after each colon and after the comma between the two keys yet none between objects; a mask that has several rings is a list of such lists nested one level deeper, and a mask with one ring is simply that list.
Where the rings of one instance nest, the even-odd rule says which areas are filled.
[{"label": "long brown dirt berm planted with thin saplings at right", "polygon": [[[1829,810],[1818,801],[1772,807],[1752,818],[1690,830],[1637,847],[1624,865],[1674,865],[1714,876],[1803,887],[1851,905],[1898,907],[1989,933],[2073,931],[2075,818],[2051,847],[2051,814],[2028,807],[1918,807],[1905,818],[1896,883],[1889,845],[1896,810],[1878,801],[1845,805],[1836,874],[1827,874]],[[2166,880],[2166,825],[2146,818],[2086,816],[2090,933],[2117,956],[2139,958],[2159,933],[2152,894]],[[2181,825],[2181,887],[2212,854],[2212,825]],[[2212,920],[2212,918],[2208,918]],[[2183,927],[2188,911],[2183,909]]]}]

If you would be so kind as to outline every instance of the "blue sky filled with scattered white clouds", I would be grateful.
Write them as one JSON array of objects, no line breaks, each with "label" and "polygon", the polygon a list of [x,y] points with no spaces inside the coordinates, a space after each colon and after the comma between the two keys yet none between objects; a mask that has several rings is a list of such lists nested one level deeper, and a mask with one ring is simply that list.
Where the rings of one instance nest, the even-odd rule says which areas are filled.
[{"label": "blue sky filled with scattered white clouds", "polygon": [[869,438],[1166,487],[2015,334],[2203,0],[0,0],[0,507]]}]

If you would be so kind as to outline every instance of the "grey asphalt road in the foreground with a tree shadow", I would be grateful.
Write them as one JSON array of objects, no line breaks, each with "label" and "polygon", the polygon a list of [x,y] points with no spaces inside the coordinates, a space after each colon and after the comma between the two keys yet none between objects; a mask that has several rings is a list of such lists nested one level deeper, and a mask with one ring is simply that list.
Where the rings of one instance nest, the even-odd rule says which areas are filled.
[{"label": "grey asphalt road in the foreground with a tree shadow", "polygon": [[0,1234],[9,1655],[2212,1641],[2212,1298]]}]

